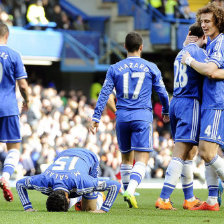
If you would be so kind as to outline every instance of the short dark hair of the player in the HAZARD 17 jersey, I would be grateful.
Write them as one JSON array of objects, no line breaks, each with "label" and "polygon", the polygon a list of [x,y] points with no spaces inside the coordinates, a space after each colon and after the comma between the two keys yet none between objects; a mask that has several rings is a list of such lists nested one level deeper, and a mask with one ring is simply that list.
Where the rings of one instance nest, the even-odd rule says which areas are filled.
[{"label": "short dark hair of the player in the HAZARD 17 jersey", "polygon": [[127,34],[125,38],[125,47],[128,52],[138,51],[140,46],[142,45],[143,40],[140,34],[136,32],[130,32]]}]

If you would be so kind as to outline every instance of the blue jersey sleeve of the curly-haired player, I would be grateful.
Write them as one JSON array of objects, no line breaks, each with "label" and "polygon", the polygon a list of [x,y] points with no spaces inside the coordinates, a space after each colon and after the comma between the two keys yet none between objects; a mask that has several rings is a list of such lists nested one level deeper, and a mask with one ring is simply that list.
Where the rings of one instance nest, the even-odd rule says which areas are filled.
[{"label": "blue jersey sleeve of the curly-haired player", "polygon": [[213,52],[209,55],[208,62],[214,62],[218,68],[224,64],[224,42],[223,38],[217,40]]}]

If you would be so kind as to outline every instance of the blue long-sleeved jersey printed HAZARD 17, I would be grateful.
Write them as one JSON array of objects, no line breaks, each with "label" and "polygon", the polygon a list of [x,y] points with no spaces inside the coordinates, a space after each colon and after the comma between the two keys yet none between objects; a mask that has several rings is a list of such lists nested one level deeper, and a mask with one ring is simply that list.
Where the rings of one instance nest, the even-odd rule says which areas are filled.
[{"label": "blue long-sleeved jersey printed HAZARD 17", "polygon": [[163,113],[169,111],[169,99],[161,72],[154,63],[140,57],[128,57],[108,69],[100,92],[93,120],[99,122],[103,109],[113,88],[117,97],[117,119],[123,121],[151,121],[152,88],[159,94]]}]

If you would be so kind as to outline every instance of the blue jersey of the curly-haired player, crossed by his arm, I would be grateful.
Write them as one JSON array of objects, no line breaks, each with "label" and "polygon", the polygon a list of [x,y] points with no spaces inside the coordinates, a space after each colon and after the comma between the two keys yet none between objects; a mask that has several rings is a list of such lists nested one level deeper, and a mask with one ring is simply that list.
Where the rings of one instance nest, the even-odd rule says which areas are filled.
[{"label": "blue jersey of the curly-haired player, crossed by his arm", "polygon": [[[224,68],[224,35],[219,34],[206,46],[208,62]],[[203,85],[202,109],[224,109],[224,80],[205,77]]]}]

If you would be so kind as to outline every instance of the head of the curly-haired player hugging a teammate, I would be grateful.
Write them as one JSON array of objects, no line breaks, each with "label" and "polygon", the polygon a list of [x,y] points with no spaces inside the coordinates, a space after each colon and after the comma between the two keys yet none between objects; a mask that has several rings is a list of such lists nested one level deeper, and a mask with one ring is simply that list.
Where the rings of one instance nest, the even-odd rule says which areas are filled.
[{"label": "head of the curly-haired player hugging a teammate", "polygon": [[214,39],[224,32],[224,10],[215,3],[209,3],[197,12],[197,22],[206,36]]}]

